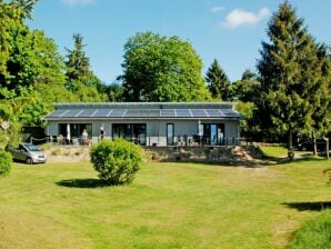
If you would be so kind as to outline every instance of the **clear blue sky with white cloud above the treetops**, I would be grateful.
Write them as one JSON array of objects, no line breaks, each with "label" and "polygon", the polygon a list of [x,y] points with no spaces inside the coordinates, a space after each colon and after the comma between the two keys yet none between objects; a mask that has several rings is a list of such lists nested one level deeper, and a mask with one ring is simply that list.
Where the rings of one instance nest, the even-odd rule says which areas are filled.
[{"label": "clear blue sky with white cloud above the treetops", "polygon": [[[123,46],[137,32],[178,36],[192,42],[204,74],[217,59],[231,81],[255,70],[267,23],[281,0],[39,0],[29,26],[44,30],[60,52],[73,47],[72,34],[87,43],[93,72],[111,83],[122,73]],[[319,42],[331,44],[331,1],[291,0],[297,14]]]}]

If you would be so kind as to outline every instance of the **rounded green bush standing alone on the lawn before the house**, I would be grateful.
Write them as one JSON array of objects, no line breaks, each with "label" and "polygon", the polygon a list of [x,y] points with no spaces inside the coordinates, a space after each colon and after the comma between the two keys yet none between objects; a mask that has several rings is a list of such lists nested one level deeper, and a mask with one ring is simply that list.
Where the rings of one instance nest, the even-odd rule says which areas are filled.
[{"label": "rounded green bush standing alone on the lawn before the house", "polygon": [[108,185],[132,182],[142,162],[141,148],[123,139],[103,139],[91,147],[90,155],[99,178]]}]

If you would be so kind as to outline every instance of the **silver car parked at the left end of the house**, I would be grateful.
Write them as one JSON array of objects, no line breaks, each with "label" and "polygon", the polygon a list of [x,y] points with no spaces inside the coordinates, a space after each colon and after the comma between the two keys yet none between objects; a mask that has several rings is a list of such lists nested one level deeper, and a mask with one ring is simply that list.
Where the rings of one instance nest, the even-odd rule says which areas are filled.
[{"label": "silver car parked at the left end of the house", "polygon": [[21,142],[18,148],[7,145],[6,151],[10,152],[13,160],[24,161],[28,165],[46,162],[46,155],[32,143]]}]

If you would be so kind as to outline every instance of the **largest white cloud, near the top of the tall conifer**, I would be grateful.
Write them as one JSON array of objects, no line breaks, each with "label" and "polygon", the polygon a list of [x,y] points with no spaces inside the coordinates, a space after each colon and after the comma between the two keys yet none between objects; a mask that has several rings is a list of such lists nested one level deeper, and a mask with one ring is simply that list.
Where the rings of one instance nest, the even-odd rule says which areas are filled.
[{"label": "largest white cloud, near the top of the tall conifer", "polygon": [[268,18],[271,12],[268,8],[262,8],[258,13],[234,9],[225,17],[225,20],[222,22],[222,24],[232,29],[240,26],[252,26],[264,18]]}]

